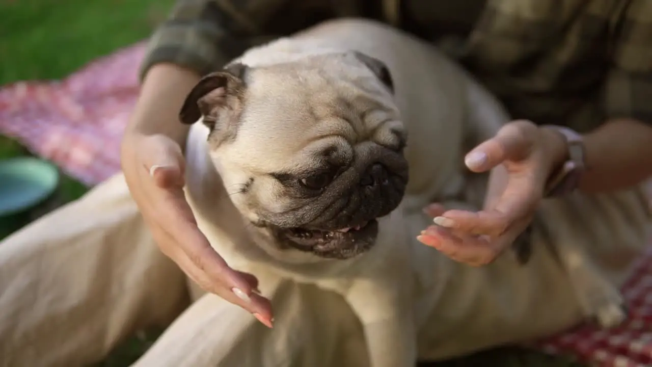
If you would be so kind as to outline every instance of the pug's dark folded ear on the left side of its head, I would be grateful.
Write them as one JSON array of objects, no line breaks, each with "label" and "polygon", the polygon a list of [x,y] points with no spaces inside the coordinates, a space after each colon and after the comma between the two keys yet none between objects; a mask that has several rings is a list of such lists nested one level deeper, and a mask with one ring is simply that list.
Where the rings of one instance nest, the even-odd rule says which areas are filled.
[{"label": "pug's dark folded ear on the left side of its head", "polygon": [[204,116],[204,123],[213,130],[216,110],[226,106],[233,98],[240,100],[243,97],[247,70],[246,65],[234,63],[201,78],[181,106],[179,120],[190,125]]}]

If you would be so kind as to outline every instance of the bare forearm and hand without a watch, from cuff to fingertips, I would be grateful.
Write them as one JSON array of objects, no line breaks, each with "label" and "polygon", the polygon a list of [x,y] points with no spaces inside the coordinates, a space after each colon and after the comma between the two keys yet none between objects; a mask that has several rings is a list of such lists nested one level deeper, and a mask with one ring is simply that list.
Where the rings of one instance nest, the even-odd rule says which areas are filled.
[{"label": "bare forearm and hand without a watch, from cuff to fingertips", "polygon": [[161,251],[202,289],[241,306],[271,327],[271,304],[256,294],[258,279],[233,270],[216,253],[197,227],[183,192],[185,159],[180,142],[188,130],[177,116],[198,80],[194,72],[171,64],[158,64],[147,72],[123,137],[125,180]]}]

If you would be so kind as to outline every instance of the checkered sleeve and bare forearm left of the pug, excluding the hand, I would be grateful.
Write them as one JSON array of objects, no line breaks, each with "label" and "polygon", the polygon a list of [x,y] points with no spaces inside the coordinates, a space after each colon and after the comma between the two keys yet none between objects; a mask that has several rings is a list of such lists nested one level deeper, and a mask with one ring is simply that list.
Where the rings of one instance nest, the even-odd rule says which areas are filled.
[{"label": "checkered sleeve and bare forearm left of the pug, excluding the hand", "polygon": [[231,3],[179,0],[156,29],[141,64],[142,89],[125,131],[123,153],[132,143],[130,137],[138,136],[134,133],[167,136],[183,150],[188,126],[179,123],[178,115],[186,95],[201,75],[239,56],[248,47],[248,38],[258,35],[241,25],[253,22],[250,14],[236,19],[224,9],[239,10]]}]

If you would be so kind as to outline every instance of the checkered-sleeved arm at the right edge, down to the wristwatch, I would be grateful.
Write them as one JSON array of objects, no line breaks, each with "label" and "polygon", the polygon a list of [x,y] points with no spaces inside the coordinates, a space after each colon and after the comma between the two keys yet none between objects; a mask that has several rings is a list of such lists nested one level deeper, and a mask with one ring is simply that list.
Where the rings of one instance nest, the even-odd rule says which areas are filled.
[{"label": "checkered-sleeved arm at the right edge, down to the wristwatch", "polygon": [[589,168],[582,191],[610,191],[652,176],[652,38],[649,0],[623,6],[610,35],[604,84],[606,122],[584,135]]}]

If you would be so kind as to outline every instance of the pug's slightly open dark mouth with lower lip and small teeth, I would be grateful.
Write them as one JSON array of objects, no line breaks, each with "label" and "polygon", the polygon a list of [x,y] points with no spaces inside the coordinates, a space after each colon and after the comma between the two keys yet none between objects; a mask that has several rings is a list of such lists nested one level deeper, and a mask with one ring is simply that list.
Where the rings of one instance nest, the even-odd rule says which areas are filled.
[{"label": "pug's slightly open dark mouth with lower lip and small teeth", "polygon": [[334,231],[289,228],[283,229],[281,234],[284,242],[295,249],[327,259],[350,259],[374,246],[378,221],[372,219]]}]

